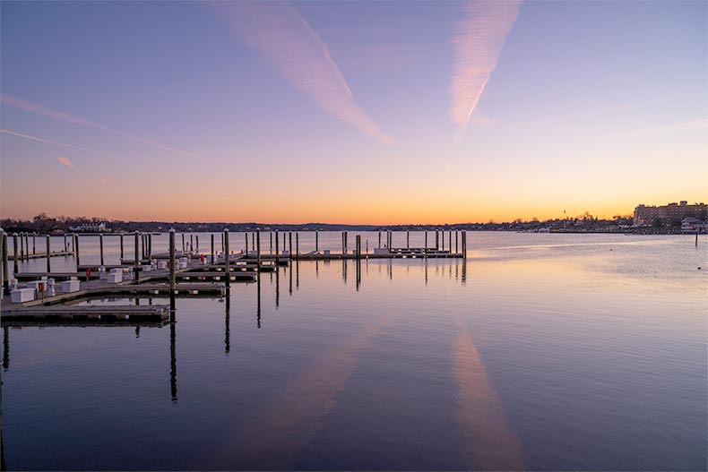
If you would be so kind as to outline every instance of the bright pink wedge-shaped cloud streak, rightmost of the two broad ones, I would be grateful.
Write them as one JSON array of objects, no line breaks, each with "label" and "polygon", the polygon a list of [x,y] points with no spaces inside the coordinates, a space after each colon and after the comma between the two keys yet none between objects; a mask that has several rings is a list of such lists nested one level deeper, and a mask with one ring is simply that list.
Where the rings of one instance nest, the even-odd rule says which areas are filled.
[{"label": "bright pink wedge-shaped cloud streak, rightmost of the two broad ones", "polygon": [[462,20],[453,37],[454,62],[450,113],[457,124],[455,141],[464,136],[489,77],[496,68],[506,35],[521,8],[517,0],[482,0],[462,5]]}]

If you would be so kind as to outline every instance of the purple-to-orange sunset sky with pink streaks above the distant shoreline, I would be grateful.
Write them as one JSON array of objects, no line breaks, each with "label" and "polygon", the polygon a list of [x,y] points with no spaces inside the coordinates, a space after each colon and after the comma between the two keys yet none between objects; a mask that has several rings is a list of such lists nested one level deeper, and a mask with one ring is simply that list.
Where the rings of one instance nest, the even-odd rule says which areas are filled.
[{"label": "purple-to-orange sunset sky with pink streaks above the distant shoreline", "polygon": [[708,3],[0,3],[0,216],[440,224],[708,201]]}]

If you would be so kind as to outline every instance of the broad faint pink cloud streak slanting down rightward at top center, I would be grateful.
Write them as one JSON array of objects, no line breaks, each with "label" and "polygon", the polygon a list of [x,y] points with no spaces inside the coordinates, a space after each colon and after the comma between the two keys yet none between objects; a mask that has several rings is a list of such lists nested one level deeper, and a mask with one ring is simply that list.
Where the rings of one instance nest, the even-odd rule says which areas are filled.
[{"label": "broad faint pink cloud streak slanting down rightward at top center", "polygon": [[393,138],[359,106],[324,41],[288,3],[213,4],[229,28],[325,113],[385,144]]}]

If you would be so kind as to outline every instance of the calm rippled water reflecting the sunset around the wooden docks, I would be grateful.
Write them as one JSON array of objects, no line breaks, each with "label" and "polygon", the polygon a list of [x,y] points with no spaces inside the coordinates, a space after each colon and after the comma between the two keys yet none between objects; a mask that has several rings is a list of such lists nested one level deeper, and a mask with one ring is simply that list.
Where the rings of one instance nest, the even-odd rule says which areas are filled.
[{"label": "calm rippled water reflecting the sunset around the wooden docks", "polygon": [[[98,261],[89,239],[82,262]],[[706,468],[705,238],[471,232],[468,246],[466,262],[363,261],[360,282],[354,262],[300,262],[229,303],[178,299],[162,328],[4,330],[5,465]],[[106,247],[117,262],[117,238]]]}]

